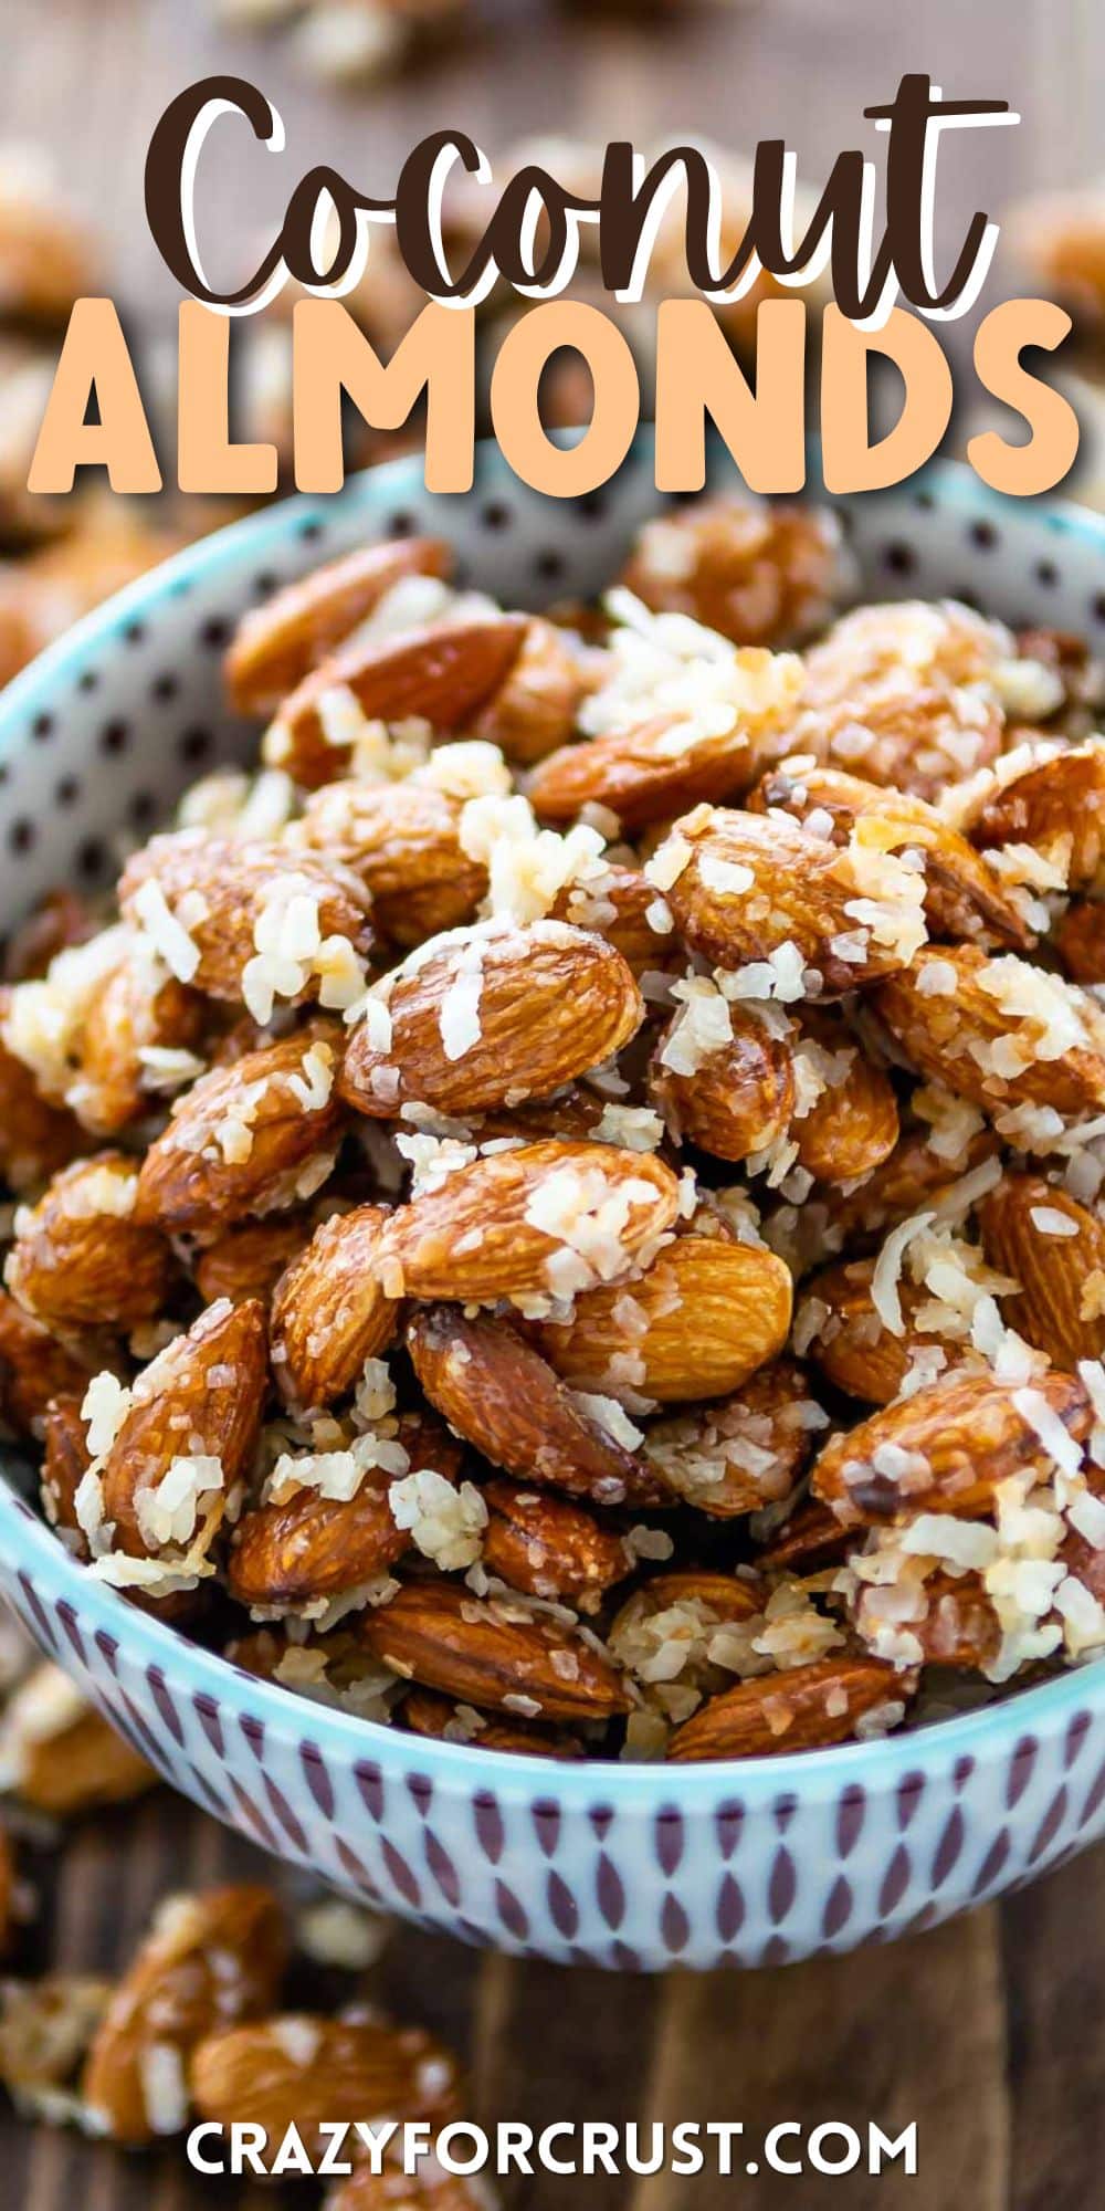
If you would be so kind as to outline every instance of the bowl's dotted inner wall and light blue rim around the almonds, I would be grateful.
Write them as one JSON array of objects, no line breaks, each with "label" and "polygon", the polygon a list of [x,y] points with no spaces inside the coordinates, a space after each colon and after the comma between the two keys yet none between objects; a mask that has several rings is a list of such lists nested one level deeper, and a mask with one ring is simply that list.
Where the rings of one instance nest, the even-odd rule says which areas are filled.
[{"label": "bowl's dotted inner wall and light blue rim around the almonds", "polygon": [[[725,453],[712,455],[709,484],[734,482]],[[815,491],[815,486],[813,486]],[[815,495],[822,495],[815,491]],[[1074,506],[1001,500],[957,464],[939,464],[906,489],[831,502],[853,544],[866,597],[959,597],[1012,626],[1054,626],[1085,635],[1105,650],[1105,524]],[[290,500],[221,531],[130,586],[80,624],[0,696],[0,933],[60,882],[95,887],[113,880],[122,847],[166,820],[179,792],[217,763],[252,754],[256,727],[236,721],[221,694],[221,657],[239,617],[292,577],[336,557],[365,537],[435,531],[457,548],[466,581],[511,606],[539,606],[599,590],[617,570],[628,537],[663,506],[652,486],[652,447],[641,438],[619,480],[601,495],[555,502],[517,484],[502,455],[480,455],[471,497],[433,497],[418,464],[391,462],[356,478],[340,497]],[[20,1486],[20,1459],[2,1457]],[[0,1484],[2,1490],[2,1484]],[[7,1508],[7,1510],[4,1510]],[[287,1691],[236,1676],[225,1660],[194,1649],[172,1630],[126,1607],[110,1590],[88,1583],[27,1508],[4,1492],[11,1539],[33,1583],[51,1581],[104,1632],[133,1641],[146,1658],[177,1652],[197,1678],[219,1680],[241,1709],[287,1718]],[[1076,1687],[1081,1683],[1081,1687]],[[941,1751],[959,1753],[983,1731],[1019,1729],[1028,1709],[1072,1711],[1105,1694],[1105,1663],[1078,1676],[1025,1689],[979,1714],[926,1731]],[[1017,1716],[1012,1716],[1017,1711]],[[338,1711],[325,1714],[354,1749],[367,1733],[380,1751],[387,1729]],[[393,1738],[396,1740],[396,1738]],[[871,1773],[875,1764],[917,1762],[919,1736],[844,1744],[835,1751],[743,1764],[765,1769],[771,1789],[802,1769],[807,1786],[840,1784],[842,1762]],[[420,1744],[422,1764],[533,1771],[528,1760],[484,1758],[455,1744]],[[829,1769],[829,1771],[827,1771]],[[619,1798],[645,1798],[665,1769],[617,1767]],[[610,1780],[614,1771],[606,1767]],[[681,1798],[705,1791],[716,1769],[681,1769]],[[594,1769],[590,1769],[594,1773]],[[583,1795],[592,1782],[557,1769],[561,1793]],[[712,1784],[709,1784],[712,1786]]]}]

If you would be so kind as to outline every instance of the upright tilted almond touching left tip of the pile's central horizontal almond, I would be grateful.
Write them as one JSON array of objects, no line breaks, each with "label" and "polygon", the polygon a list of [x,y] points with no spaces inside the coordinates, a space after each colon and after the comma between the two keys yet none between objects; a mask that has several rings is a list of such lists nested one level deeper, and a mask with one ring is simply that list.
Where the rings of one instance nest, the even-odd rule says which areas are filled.
[{"label": "upright tilted almond touching left tip of the pile's central horizontal almond", "polygon": [[398,1329],[398,1307],[380,1287],[382,1205],[358,1205],[314,1232],[272,1298],[272,1364],[285,1397],[334,1404]]}]

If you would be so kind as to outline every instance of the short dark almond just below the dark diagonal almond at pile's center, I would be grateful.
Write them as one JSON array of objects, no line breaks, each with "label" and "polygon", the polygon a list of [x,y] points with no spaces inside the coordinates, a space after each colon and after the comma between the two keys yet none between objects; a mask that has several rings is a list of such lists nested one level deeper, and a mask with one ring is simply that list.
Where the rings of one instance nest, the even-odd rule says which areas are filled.
[{"label": "short dark almond just below the dark diagonal almond at pile's center", "polygon": [[497,1477],[484,1484],[484,1565],[513,1590],[597,1612],[606,1590],[630,1572],[621,1537],[566,1497]]}]

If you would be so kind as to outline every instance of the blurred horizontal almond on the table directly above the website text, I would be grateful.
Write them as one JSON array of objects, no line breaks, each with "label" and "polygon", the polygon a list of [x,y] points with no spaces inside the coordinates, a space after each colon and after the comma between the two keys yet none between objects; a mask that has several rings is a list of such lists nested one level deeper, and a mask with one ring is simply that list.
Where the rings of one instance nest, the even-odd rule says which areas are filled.
[{"label": "blurred horizontal almond on the table directly above the website text", "polygon": [[281,2142],[298,2127],[307,2156],[327,2149],[327,2127],[455,2116],[460,2078],[446,2050],[418,2027],[378,2019],[285,2012],[208,2032],[192,2050],[192,2098],[219,2127],[263,2127]]}]

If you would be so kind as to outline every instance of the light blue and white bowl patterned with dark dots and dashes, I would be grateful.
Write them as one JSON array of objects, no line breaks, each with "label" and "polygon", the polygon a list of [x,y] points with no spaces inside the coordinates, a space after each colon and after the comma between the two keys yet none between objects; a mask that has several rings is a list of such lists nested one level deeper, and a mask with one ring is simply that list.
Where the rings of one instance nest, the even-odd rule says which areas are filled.
[{"label": "light blue and white bowl patterned with dark dots and dashes", "polygon": [[[725,455],[712,482],[732,480]],[[508,604],[590,593],[656,511],[641,440],[601,497],[552,502],[484,451],[431,497],[389,462],[290,500],[130,586],[0,699],[0,929],[110,873],[177,792],[245,750],[221,652],[276,584],[373,535],[446,535]],[[838,502],[869,597],[955,595],[1105,648],[1105,522],[999,500],[955,464]],[[4,1457],[0,1590],[183,1795],[367,1901],[502,1950],[621,1970],[762,1966],[893,1939],[1105,1831],[1105,1660],[880,1742],[729,1764],[552,1764],[429,1742],[241,1674],[86,1579]]]}]

